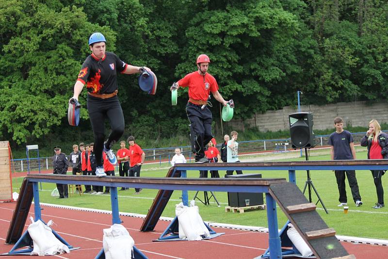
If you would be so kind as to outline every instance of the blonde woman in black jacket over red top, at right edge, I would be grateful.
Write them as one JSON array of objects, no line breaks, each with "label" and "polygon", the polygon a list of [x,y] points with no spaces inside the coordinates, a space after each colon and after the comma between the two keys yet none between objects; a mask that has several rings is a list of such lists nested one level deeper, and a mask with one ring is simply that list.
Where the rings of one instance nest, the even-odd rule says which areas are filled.
[{"label": "blonde woman in black jacket over red top, at right edge", "polygon": [[[369,130],[361,139],[361,146],[366,146],[368,148],[368,159],[388,158],[388,134],[381,132],[381,127],[377,120],[371,120],[371,122],[369,122]],[[371,172],[377,193],[377,203],[372,208],[381,209],[384,207],[384,189],[381,178],[385,171],[371,170]]]}]

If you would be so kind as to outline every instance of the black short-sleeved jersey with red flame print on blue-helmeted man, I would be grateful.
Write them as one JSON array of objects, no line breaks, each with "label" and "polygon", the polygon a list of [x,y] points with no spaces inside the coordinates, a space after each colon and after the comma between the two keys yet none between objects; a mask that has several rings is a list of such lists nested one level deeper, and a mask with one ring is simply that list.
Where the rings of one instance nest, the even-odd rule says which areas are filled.
[{"label": "black short-sleeved jersey with red flame print on blue-helmeted man", "polygon": [[122,73],[127,66],[112,52],[105,52],[101,60],[91,54],[82,64],[78,81],[86,84],[86,89],[90,93],[111,94],[117,90],[116,71]]}]

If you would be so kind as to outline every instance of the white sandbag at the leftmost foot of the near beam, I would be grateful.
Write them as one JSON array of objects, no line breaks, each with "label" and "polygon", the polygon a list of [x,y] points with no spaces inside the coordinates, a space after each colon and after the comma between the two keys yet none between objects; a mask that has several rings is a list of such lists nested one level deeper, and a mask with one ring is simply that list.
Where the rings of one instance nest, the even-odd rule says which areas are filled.
[{"label": "white sandbag at the leftmost foot of the near beam", "polygon": [[[32,224],[30,224],[27,229],[33,242],[33,251],[31,252],[31,255],[52,256],[70,253],[67,245],[54,236],[49,226],[46,226],[41,220],[33,222],[32,217],[31,222]],[[50,224],[51,221],[49,221],[48,225]]]}]

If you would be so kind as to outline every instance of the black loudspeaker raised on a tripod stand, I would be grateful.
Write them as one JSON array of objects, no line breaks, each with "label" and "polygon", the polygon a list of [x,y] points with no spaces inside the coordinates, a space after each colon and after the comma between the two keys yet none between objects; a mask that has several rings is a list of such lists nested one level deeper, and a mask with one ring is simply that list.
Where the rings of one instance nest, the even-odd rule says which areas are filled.
[{"label": "black loudspeaker raised on a tripod stand", "polygon": [[312,113],[292,113],[290,120],[290,136],[293,148],[314,147],[315,135],[312,130],[314,119]]}]

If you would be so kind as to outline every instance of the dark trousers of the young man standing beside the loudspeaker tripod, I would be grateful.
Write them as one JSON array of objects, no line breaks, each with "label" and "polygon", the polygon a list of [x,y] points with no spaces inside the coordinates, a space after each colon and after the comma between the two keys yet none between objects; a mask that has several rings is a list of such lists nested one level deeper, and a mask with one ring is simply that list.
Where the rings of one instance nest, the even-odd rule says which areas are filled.
[{"label": "dark trousers of the young man standing beside the loudspeaker tripod", "polygon": [[[346,176],[345,176],[346,173]],[[352,191],[353,200],[361,200],[360,193],[358,191],[358,184],[356,179],[356,171],[355,170],[336,170],[335,175],[337,178],[337,185],[339,191],[339,202],[347,203],[348,198],[346,196],[345,189],[345,178],[348,178],[350,190]]]}]

